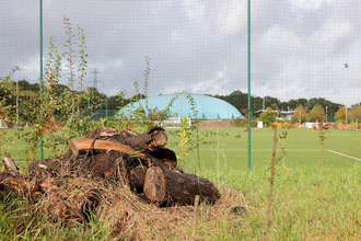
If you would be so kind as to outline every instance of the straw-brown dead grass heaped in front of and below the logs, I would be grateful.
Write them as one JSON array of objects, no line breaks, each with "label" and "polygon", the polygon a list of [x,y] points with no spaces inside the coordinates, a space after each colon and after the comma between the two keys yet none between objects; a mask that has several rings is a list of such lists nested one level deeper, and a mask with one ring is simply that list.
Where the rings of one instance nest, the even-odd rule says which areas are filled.
[{"label": "straw-brown dead grass heaped in front of and below the logs", "polygon": [[[44,236],[48,230],[75,230],[71,233],[72,239],[83,240],[85,230],[94,229],[90,223],[96,223],[98,229],[109,230],[108,234],[102,234],[104,239],[191,239],[194,206],[161,208],[142,199],[142,195],[135,194],[126,181],[114,182],[95,176],[71,177],[69,173],[59,173],[54,180],[59,188],[47,190],[34,205],[22,199],[23,206],[16,206],[20,213],[28,213],[26,218],[20,213],[14,215],[18,217],[16,237],[28,230],[34,234],[32,238]],[[224,221],[237,226],[251,207],[236,199],[242,200],[231,190],[223,190],[222,198],[216,204],[200,204],[197,215],[198,239],[212,239]]]}]

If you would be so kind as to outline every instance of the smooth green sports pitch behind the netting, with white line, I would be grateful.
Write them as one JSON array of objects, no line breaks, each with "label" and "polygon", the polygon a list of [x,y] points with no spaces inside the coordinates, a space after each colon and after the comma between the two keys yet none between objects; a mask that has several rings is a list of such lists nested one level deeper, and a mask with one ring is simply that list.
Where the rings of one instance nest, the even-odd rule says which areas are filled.
[{"label": "smooth green sports pitch behind the netting, with white line", "polygon": [[[176,141],[179,137],[176,129],[166,129],[168,135],[167,147],[175,152],[178,151]],[[241,138],[235,136],[241,134],[241,128],[199,128],[199,139],[208,144],[200,144],[201,169],[216,169],[219,160],[220,169],[232,169],[240,150]],[[19,140],[14,133],[16,129],[7,129],[7,137],[13,136],[13,144],[7,144],[5,152],[9,152],[16,162],[24,162],[23,151],[26,144]],[[282,133],[283,129],[278,129]],[[313,129],[287,129],[288,136],[284,139],[286,157],[284,162],[288,168],[299,165],[317,165],[321,157],[319,139],[317,131]],[[218,133],[220,135],[218,135]],[[270,158],[272,153],[273,129],[252,129],[252,169],[264,168],[265,158]],[[244,133],[240,156],[234,169],[248,169],[248,134]],[[195,136],[191,137],[195,140]],[[202,141],[200,141],[202,142]],[[281,156],[282,144],[278,142],[277,157]],[[44,157],[49,157],[48,150],[44,149]],[[39,158],[39,156],[38,156]],[[326,133],[324,167],[353,167],[361,164],[361,131],[330,129]],[[278,165],[282,164],[282,160]],[[189,151],[186,158],[186,169],[198,170],[197,151]]]}]

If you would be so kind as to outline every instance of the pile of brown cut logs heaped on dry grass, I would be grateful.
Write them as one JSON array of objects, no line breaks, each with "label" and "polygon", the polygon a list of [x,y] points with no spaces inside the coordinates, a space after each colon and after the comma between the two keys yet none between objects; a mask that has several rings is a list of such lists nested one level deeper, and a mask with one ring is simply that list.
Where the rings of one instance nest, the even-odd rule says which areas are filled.
[{"label": "pile of brown cut logs heaped on dry grass", "polygon": [[[26,196],[33,204],[45,197],[53,198],[47,210],[57,219],[84,221],[70,202],[70,184],[81,190],[90,181],[103,180],[124,185],[148,203],[159,206],[193,205],[196,195],[202,202],[220,198],[214,184],[177,167],[176,154],[167,149],[164,129],[154,127],[147,133],[101,127],[84,138],[70,139],[69,151],[60,158],[35,161],[27,175],[21,175],[11,157],[2,162],[0,191]],[[109,184],[110,185],[110,184]],[[82,196],[81,208],[92,209],[102,203],[102,195]],[[77,206],[77,205],[75,205]],[[86,209],[85,208],[85,209]]]}]

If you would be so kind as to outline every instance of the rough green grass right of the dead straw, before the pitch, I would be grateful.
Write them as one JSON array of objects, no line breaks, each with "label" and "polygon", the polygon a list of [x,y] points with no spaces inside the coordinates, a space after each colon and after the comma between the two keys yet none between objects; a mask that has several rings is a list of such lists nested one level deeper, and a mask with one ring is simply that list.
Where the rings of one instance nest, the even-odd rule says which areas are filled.
[{"label": "rough green grass right of the dead straw, before the pitch", "polygon": [[[277,170],[269,239],[360,240],[360,165],[322,171],[314,167],[299,167],[292,172]],[[205,174],[216,179],[214,173]],[[269,198],[267,169],[224,172],[222,176],[221,193],[252,207],[234,238],[260,240]]]}]

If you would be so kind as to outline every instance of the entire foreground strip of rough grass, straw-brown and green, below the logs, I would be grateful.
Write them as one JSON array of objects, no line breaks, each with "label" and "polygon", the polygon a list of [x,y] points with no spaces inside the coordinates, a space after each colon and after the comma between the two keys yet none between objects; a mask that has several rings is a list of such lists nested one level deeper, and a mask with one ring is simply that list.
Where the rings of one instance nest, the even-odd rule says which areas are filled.
[{"label": "entire foreground strip of rough grass, straw-brown and green, below the logs", "polygon": [[[222,172],[222,198],[200,204],[196,239],[260,240],[269,188],[265,172]],[[293,172],[280,167],[267,240],[359,240],[360,173],[359,165],[322,173],[315,167]],[[36,206],[3,199],[0,240],[193,240],[193,206],[160,208],[110,180],[67,181]]]}]

